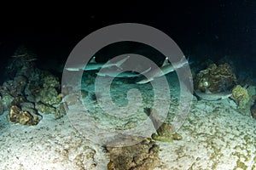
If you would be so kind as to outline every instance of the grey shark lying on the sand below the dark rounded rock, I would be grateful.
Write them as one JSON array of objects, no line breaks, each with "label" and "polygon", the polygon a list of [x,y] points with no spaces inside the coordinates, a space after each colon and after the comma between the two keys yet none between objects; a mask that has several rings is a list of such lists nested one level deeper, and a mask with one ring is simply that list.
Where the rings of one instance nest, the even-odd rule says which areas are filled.
[{"label": "grey shark lying on the sand below the dark rounded rock", "polygon": [[201,92],[198,90],[194,90],[194,94],[197,99],[199,100],[208,100],[208,101],[214,101],[214,100],[220,100],[220,99],[228,99],[232,96],[232,92],[226,91],[226,92],[218,92],[218,93],[211,93],[210,91]]}]

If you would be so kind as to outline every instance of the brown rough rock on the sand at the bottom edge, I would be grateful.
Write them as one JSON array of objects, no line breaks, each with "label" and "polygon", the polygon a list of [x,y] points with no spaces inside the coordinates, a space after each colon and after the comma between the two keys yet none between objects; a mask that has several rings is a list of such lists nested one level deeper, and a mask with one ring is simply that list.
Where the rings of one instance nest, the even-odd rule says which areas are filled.
[{"label": "brown rough rock on the sand at the bottom edge", "polygon": [[160,165],[159,146],[151,139],[124,147],[107,146],[110,155],[108,170],[152,170]]}]

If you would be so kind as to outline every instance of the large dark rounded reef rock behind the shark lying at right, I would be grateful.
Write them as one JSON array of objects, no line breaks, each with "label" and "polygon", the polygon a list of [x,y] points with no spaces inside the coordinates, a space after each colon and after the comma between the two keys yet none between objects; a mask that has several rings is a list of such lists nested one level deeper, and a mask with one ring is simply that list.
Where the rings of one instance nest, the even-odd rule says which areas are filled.
[{"label": "large dark rounded reef rock behind the shark lying at right", "polygon": [[236,75],[232,67],[227,64],[212,64],[206,70],[199,71],[194,80],[195,89],[201,92],[207,90],[212,93],[230,90],[236,85]]}]

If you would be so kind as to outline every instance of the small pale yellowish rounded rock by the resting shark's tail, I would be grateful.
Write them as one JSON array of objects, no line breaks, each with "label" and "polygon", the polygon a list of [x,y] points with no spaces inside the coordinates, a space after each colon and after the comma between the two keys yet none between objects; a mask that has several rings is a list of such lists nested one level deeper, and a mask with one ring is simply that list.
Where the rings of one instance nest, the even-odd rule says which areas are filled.
[{"label": "small pale yellowish rounded rock by the resting shark's tail", "polygon": [[247,89],[242,88],[240,85],[237,85],[235,88],[232,89],[231,98],[235,100],[236,105],[238,105],[239,108],[246,108],[250,100]]}]

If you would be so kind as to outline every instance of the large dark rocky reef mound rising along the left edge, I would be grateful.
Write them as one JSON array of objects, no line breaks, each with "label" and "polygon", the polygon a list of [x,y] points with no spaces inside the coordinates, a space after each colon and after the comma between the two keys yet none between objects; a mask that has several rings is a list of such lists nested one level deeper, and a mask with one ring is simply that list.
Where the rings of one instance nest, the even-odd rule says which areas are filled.
[{"label": "large dark rocky reef mound rising along the left edge", "polygon": [[39,70],[36,59],[35,54],[20,47],[9,60],[6,73],[14,77],[0,86],[0,109],[9,111],[9,122],[36,125],[42,114],[54,114],[55,118],[66,115],[58,77]]}]

